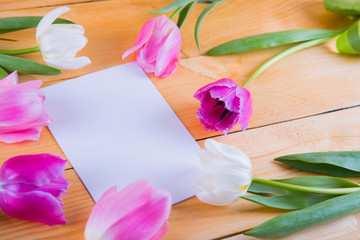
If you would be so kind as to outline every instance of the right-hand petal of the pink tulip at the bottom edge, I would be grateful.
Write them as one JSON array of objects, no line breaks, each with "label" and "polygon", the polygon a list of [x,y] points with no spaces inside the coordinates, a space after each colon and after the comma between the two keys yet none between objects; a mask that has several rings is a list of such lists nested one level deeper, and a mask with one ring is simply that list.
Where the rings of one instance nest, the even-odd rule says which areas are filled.
[{"label": "right-hand petal of the pink tulip at the bottom edge", "polygon": [[104,239],[151,239],[157,231],[164,230],[170,209],[170,194],[156,189],[146,204],[111,226]]}]

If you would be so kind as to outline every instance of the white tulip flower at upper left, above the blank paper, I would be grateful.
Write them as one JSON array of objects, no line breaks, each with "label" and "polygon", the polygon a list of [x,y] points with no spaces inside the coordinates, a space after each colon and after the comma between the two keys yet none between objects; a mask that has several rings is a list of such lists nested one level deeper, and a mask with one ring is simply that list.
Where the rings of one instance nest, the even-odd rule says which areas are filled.
[{"label": "white tulip flower at upper left, above the blank paper", "polygon": [[36,40],[46,64],[60,69],[78,69],[91,63],[88,57],[75,57],[87,43],[85,30],[78,24],[52,24],[70,8],[59,7],[46,14],[36,28]]}]

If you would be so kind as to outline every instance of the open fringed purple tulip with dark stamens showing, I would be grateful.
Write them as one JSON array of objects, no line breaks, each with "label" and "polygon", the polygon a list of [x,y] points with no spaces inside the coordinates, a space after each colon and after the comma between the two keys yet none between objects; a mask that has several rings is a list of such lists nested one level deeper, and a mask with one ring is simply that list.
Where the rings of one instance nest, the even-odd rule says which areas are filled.
[{"label": "open fringed purple tulip with dark stamens showing", "polygon": [[250,92],[223,78],[200,88],[194,95],[201,103],[197,117],[205,130],[227,134],[239,123],[242,130],[249,124],[253,108]]}]

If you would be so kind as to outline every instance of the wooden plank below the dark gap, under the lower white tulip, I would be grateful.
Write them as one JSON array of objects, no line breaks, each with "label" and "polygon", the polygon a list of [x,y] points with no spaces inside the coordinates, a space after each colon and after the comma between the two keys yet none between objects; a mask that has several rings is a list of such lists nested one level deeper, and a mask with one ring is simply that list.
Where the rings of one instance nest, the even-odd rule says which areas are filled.
[{"label": "wooden plank below the dark gap, under the lower white tulip", "polygon": [[[273,163],[274,157],[308,151],[360,150],[357,119],[360,107],[275,124],[215,138],[245,151],[253,162],[254,176],[268,179],[310,175]],[[199,141],[203,146],[204,141]],[[47,227],[11,219],[0,213],[1,239],[81,239],[86,218],[93,206],[74,170],[66,171],[72,187],[64,198],[67,226]],[[353,180],[359,181],[360,178]],[[214,239],[242,232],[280,213],[240,200],[230,206],[213,207],[191,198],[173,207],[170,230],[165,239]],[[356,216],[358,219],[359,215]],[[339,227],[342,225],[340,224]],[[310,230],[309,230],[310,231]],[[340,231],[340,230],[339,230]]]}]

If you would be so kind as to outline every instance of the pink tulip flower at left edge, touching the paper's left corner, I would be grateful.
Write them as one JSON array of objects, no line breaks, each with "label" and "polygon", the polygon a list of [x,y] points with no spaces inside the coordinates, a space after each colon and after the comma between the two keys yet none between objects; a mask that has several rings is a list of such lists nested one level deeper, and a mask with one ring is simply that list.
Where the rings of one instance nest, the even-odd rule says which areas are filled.
[{"label": "pink tulip flower at left edge, touching the paper's left corner", "polygon": [[0,142],[39,140],[42,127],[51,122],[41,84],[18,84],[17,72],[0,80]]}]

